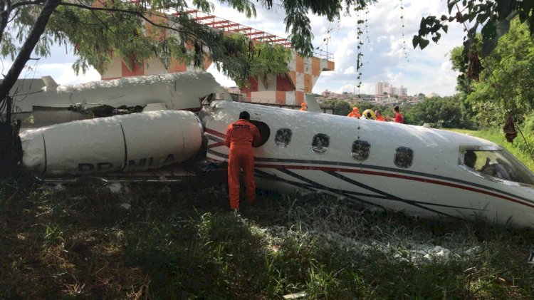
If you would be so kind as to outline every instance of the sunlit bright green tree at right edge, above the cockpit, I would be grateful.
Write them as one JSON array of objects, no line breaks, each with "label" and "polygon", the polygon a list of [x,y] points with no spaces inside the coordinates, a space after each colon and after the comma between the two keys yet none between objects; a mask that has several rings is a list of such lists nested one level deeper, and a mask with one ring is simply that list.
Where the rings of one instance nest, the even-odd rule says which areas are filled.
[{"label": "sunlit bright green tree at right edge, above the cockpit", "polygon": [[462,50],[451,51],[453,68],[461,72],[456,89],[479,125],[502,125],[506,115],[523,115],[534,109],[534,41],[526,24],[513,20],[493,53],[481,61],[480,81],[466,76],[468,62],[461,56]]}]

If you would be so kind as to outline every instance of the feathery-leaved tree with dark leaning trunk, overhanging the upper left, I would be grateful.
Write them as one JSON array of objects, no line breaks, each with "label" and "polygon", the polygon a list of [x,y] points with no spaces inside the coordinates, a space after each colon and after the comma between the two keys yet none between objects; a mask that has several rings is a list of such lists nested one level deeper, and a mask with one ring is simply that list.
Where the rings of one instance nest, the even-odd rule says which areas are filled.
[{"label": "feathery-leaved tree with dark leaning trunk, overhanging the upper left", "polygon": [[[272,0],[258,0],[269,9]],[[333,21],[343,9],[365,7],[374,0],[283,0],[286,31],[295,50],[313,53],[308,12]],[[251,17],[256,9],[251,0],[219,0]],[[192,1],[194,9],[210,13],[208,0]],[[208,56],[219,71],[243,85],[249,76],[266,72],[286,73],[288,53],[282,47],[260,46],[244,36],[226,36],[194,21],[184,11],[192,9],[184,0],[93,1],[93,0],[0,0],[0,53],[14,63],[0,83],[0,160],[13,156],[14,133],[9,93],[31,56],[50,55],[53,44],[76,46],[76,72],[94,66],[102,71],[113,55],[130,64],[157,56],[168,64],[171,58],[201,66]],[[177,11],[169,16],[158,11]],[[191,49],[189,49],[191,47]],[[257,58],[257,59],[256,59]],[[38,58],[37,58],[38,59]],[[273,60],[276,59],[277,62]],[[269,63],[266,63],[269,61]]]}]

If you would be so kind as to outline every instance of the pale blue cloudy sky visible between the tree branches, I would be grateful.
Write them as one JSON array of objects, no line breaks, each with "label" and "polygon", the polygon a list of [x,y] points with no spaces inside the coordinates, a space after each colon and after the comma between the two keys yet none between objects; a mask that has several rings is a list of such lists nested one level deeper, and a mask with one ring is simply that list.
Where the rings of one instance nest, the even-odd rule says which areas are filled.
[{"label": "pale blue cloudy sky visible between the tree branches", "polygon": [[[273,1],[273,9],[267,10],[256,4],[256,18],[246,19],[227,6],[221,6],[219,1],[213,1],[214,15],[221,18],[231,16],[231,21],[251,26],[254,29],[286,37],[286,26],[283,9]],[[404,9],[401,9],[401,3]],[[335,71],[325,71],[321,74],[313,87],[313,93],[330,90],[335,93],[356,92],[375,93],[375,84],[387,81],[393,86],[404,86],[409,95],[417,93],[437,93],[438,95],[453,95],[456,86],[456,72],[452,71],[449,52],[456,46],[461,46],[464,32],[461,24],[450,24],[449,33],[441,37],[439,43],[427,46],[423,51],[412,46],[412,36],[419,30],[419,23],[424,16],[446,14],[446,0],[379,0],[370,6],[367,12],[367,32],[363,34],[362,47],[362,86],[357,88],[357,15],[342,16],[340,20],[329,22],[324,17],[310,15],[313,46],[323,51],[333,53]],[[401,19],[404,14],[404,22]],[[365,19],[365,12],[361,13]],[[404,29],[402,27],[404,24]],[[365,30],[364,30],[365,31]],[[403,35],[404,31],[404,35]],[[405,41],[405,46],[403,41]],[[21,78],[40,78],[52,76],[61,85],[83,83],[100,80],[100,75],[94,69],[87,73],[75,75],[72,65],[75,61],[72,47],[63,46],[53,48],[51,56],[28,63],[28,71],[21,74]],[[6,73],[11,66],[10,58],[1,58],[1,73]],[[223,86],[235,86],[234,81],[218,73],[210,67]]]}]

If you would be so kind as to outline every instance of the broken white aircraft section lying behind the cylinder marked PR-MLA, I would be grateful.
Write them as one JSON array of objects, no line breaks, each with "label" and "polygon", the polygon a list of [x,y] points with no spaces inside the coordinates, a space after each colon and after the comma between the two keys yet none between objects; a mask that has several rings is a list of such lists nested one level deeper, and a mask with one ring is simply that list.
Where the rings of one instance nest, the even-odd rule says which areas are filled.
[{"label": "broken white aircraft section lying behind the cylinder marked PR-MLA", "polygon": [[[51,80],[43,78],[43,81],[45,79]],[[56,108],[81,113],[105,113],[117,109],[120,114],[120,109],[135,108],[135,112],[147,111],[154,110],[155,105],[157,109],[197,112],[204,98],[223,91],[224,88],[210,73],[188,71],[93,81],[72,86],[46,84],[38,91],[17,93],[14,99],[16,113],[42,113],[46,108],[49,108],[47,113],[52,113],[51,110]],[[96,116],[100,115],[97,113]]]}]

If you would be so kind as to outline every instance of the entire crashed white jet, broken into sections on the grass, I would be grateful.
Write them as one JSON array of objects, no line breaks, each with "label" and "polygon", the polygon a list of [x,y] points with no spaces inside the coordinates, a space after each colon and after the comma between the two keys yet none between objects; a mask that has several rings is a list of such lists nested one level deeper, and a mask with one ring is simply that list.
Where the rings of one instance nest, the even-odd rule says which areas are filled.
[{"label": "entire crashed white jet, broken into sections on the grass", "polygon": [[[136,106],[133,111],[142,113],[26,130],[20,135],[23,165],[43,176],[148,172],[164,178],[158,170],[177,170],[179,162],[191,157],[222,164],[229,152],[226,127],[247,110],[262,138],[254,148],[258,187],[325,192],[421,217],[534,227],[534,174],[487,140],[233,102],[229,95],[216,100],[213,94],[224,90],[204,72],[145,77],[47,87],[41,93],[51,93],[41,97],[45,100],[32,98],[39,93],[26,95],[21,101],[28,101],[26,111],[19,108],[20,113],[88,113],[80,107],[125,113]],[[114,86],[122,90],[116,92]]]}]

